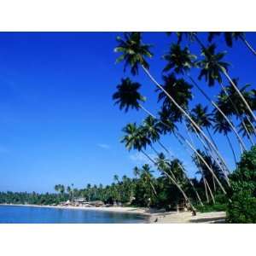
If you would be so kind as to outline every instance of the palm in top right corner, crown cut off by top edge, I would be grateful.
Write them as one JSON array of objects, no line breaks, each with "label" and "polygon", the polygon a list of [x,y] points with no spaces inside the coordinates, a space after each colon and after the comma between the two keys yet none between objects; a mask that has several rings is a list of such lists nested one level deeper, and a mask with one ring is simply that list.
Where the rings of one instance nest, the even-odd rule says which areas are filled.
[{"label": "palm in top right corner, crown cut off by top edge", "polygon": [[221,33],[224,34],[225,42],[229,47],[233,46],[234,39],[236,41],[240,39],[247,46],[247,48],[253,53],[253,55],[256,55],[256,50],[253,49],[253,46],[247,42],[247,39],[245,37],[245,32],[209,32],[208,41],[212,42],[212,38],[214,38],[215,36],[221,35]]}]

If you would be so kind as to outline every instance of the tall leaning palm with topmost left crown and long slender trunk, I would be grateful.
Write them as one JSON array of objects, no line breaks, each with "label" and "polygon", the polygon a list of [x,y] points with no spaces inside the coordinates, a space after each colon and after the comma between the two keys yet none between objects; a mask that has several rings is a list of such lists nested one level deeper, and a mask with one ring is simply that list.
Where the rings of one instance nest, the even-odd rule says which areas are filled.
[{"label": "tall leaning palm with topmost left crown and long slender trunk", "polygon": [[[195,39],[197,39],[195,35]],[[207,137],[207,135],[201,131],[201,128],[196,125],[195,121],[191,119],[189,116],[189,113],[187,113],[179,104],[173,99],[173,97],[168,94],[168,92],[161,86],[154,77],[149,73],[148,71],[148,62],[145,60],[146,57],[151,57],[152,54],[149,51],[150,45],[149,44],[143,44],[141,33],[140,32],[130,32],[125,33],[125,39],[117,38],[117,41],[119,43],[118,47],[114,49],[115,52],[121,52],[122,55],[119,56],[119,61],[125,61],[125,67],[130,66],[131,67],[131,73],[137,74],[138,73],[138,67],[139,65],[143,67],[143,71],[148,75],[148,78],[159,88],[162,90],[166,96],[169,97],[169,99],[172,101],[173,105],[177,107],[177,109],[183,113],[183,115],[189,119],[189,121],[195,125],[196,129],[198,129],[204,137],[207,142],[212,146],[213,150],[218,154],[219,158],[221,158],[221,155],[219,154],[218,150],[214,148],[214,145],[210,141],[210,139]]]}]

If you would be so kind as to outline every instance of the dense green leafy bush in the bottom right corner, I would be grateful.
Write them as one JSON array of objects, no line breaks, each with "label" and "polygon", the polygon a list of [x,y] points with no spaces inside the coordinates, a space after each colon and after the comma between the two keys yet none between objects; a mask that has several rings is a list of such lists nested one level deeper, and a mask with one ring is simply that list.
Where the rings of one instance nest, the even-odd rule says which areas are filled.
[{"label": "dense green leafy bush in the bottom right corner", "polygon": [[256,146],[244,153],[236,171],[230,175],[230,223],[256,223]]}]

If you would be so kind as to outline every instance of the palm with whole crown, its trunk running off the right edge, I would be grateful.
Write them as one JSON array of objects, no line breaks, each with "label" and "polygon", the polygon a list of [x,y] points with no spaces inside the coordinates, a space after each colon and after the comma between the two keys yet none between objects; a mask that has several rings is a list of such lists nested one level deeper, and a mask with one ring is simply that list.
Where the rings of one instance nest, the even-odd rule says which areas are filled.
[{"label": "palm with whole crown, its trunk running off the right edge", "polygon": [[213,86],[215,81],[218,81],[219,84],[222,83],[222,76],[223,73],[226,79],[229,80],[230,84],[234,87],[238,95],[241,97],[241,101],[247,107],[247,110],[252,115],[254,121],[256,121],[256,117],[253,113],[252,108],[250,108],[248,102],[242,96],[241,91],[237,88],[236,84],[234,84],[233,80],[230,78],[229,74],[227,73],[229,63],[222,61],[225,53],[217,53],[215,54],[216,46],[215,44],[211,44],[207,49],[202,49],[202,55],[204,59],[198,62],[199,67],[201,67],[201,73],[199,75],[199,79],[205,77],[206,81],[208,82],[209,86]]}]

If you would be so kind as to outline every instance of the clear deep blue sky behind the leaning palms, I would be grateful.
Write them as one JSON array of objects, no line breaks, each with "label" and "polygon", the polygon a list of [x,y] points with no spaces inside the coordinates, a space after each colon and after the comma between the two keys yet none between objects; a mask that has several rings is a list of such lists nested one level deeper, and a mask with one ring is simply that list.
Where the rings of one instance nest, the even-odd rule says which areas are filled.
[{"label": "clear deep blue sky behind the leaning palms", "polygon": [[[144,114],[125,114],[113,105],[116,85],[129,75],[122,64],[114,64],[118,34],[0,33],[0,190],[45,192],[53,191],[55,183],[79,188],[107,184],[114,174],[131,176],[132,167],[143,164],[140,154],[128,153],[119,143],[121,128]],[[174,39],[165,33],[144,34],[144,41],[154,44],[149,62],[157,79],[165,65],[160,56]],[[256,47],[256,33],[247,39]],[[221,43],[219,49],[227,47]],[[241,42],[228,50],[231,76],[255,88],[255,56]],[[155,113],[154,85],[143,73],[133,79],[143,84],[146,106]],[[201,84],[211,96],[218,92],[218,85],[210,90]],[[205,102],[197,92],[195,97]],[[223,137],[215,138],[232,166]],[[172,137],[163,142],[193,176],[195,167],[183,148]]]}]

